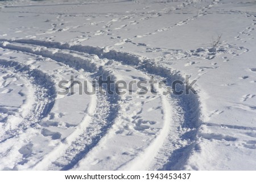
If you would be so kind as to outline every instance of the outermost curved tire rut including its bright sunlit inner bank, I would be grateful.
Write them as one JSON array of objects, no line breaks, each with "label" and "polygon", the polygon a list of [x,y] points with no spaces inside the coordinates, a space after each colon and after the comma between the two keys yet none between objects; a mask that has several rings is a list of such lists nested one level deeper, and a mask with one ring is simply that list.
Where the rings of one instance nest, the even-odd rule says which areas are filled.
[{"label": "outermost curved tire rut including its bright sunlit inner bank", "polygon": [[[167,86],[171,85],[172,81],[174,81],[175,79],[184,81],[184,78],[182,78],[179,74],[173,73],[171,70],[168,70],[164,67],[156,65],[156,63],[150,60],[137,57],[129,53],[115,52],[115,50],[104,52],[103,49],[94,48],[92,46],[69,45],[69,44],[61,44],[56,42],[39,41],[39,40],[1,40],[1,41],[8,42],[7,44],[5,43],[5,46],[3,46],[2,44],[1,45],[2,48],[21,50],[23,52],[40,54],[42,56],[47,56],[52,58],[56,58],[55,57],[56,55],[55,54],[51,54],[51,56],[49,56],[49,54],[46,55],[46,53],[48,53],[49,51],[46,50],[45,48],[44,50],[39,50],[39,49],[33,50],[30,48],[26,48],[26,46],[24,45],[32,44],[35,46],[45,46],[47,49],[54,48],[54,49],[59,49],[61,51],[64,49],[65,50],[68,49],[76,53],[78,52],[78,54],[79,53],[96,54],[101,60],[105,60],[105,62],[114,60],[115,62],[119,62],[119,64],[122,64],[120,65],[121,67],[128,66],[129,69],[131,69],[130,71],[137,71],[137,73],[144,75],[143,77],[148,78],[149,77],[148,75],[155,75],[156,77],[160,76],[162,78],[166,78]],[[24,45],[21,45],[21,46],[17,45],[19,43]],[[68,61],[66,61],[65,63],[68,64]],[[108,67],[106,65],[103,65],[102,67],[104,66]],[[79,68],[79,66],[77,68]],[[86,69],[86,66],[83,68]],[[110,66],[110,69],[113,69],[113,68]],[[129,155],[129,158],[123,158],[123,161],[126,160],[126,162],[122,164],[116,163],[115,164],[116,168],[114,168],[115,170],[137,169],[138,166],[136,164],[138,164],[139,161],[147,161],[146,166],[141,166],[145,170],[148,170],[148,169],[157,170],[160,168],[164,170],[170,170],[170,169],[178,170],[183,167],[193,147],[193,143],[195,143],[196,141],[197,128],[200,125],[200,106],[199,106],[199,101],[196,95],[189,94],[189,95],[176,96],[174,94],[171,94],[170,96],[171,96],[171,99],[168,99],[165,96],[160,96],[162,100],[162,105],[164,105],[162,108],[164,113],[164,125],[163,125],[164,127],[159,130],[160,132],[158,132],[160,137],[159,136],[152,137],[150,139],[150,145],[148,145],[147,147],[144,147],[143,149],[135,150],[133,154]],[[122,98],[121,98],[121,101],[122,101]],[[125,99],[123,99],[123,102],[125,102]],[[125,106],[129,107],[130,105],[126,104]],[[174,111],[172,109],[174,109]],[[170,112],[172,114],[170,114]],[[118,115],[117,118],[118,117],[122,117],[122,115]],[[116,119],[116,121],[114,122],[114,125],[119,127],[119,124],[122,123],[120,121],[121,120]],[[113,130],[113,127],[111,129]],[[114,130],[117,131],[116,129]],[[110,138],[111,137],[112,137],[112,134],[110,134]],[[107,136],[103,137],[103,139],[101,139],[100,142],[106,143],[108,142],[108,139],[109,139],[109,136],[107,134]],[[158,150],[155,150],[152,156],[152,151],[150,149],[151,147],[156,146],[155,143],[158,143],[159,141],[162,144],[158,145]],[[101,143],[99,145],[101,145]],[[97,146],[96,146],[96,149],[97,149]],[[141,152],[141,154],[139,154],[139,152]],[[83,156],[84,155],[85,154],[83,154]],[[160,162],[161,158],[164,160],[164,163]],[[136,162],[137,160],[138,162]],[[78,161],[76,160],[75,163],[77,162]],[[99,163],[99,162],[96,161],[93,163]],[[68,167],[68,168],[63,167],[63,169],[65,170],[71,167]],[[106,167],[106,166],[103,166],[103,167]]]}]

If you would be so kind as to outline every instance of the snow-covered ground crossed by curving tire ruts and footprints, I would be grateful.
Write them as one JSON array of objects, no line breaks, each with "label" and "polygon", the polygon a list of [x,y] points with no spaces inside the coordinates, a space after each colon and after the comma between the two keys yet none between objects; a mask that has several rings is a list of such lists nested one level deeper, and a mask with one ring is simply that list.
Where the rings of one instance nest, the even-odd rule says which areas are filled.
[{"label": "snow-covered ground crossed by curving tire ruts and footprints", "polygon": [[[255,1],[0,2],[0,170],[256,170]],[[166,80],[156,93],[58,83]],[[177,79],[197,94],[163,95]]]}]

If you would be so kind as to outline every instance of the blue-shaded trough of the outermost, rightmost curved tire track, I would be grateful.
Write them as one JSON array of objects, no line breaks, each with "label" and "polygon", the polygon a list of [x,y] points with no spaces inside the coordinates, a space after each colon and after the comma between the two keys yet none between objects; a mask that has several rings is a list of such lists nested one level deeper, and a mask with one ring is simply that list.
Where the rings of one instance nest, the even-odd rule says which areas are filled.
[{"label": "blue-shaded trough of the outermost, rightmost curved tire track", "polygon": [[[2,41],[8,41],[8,40],[2,40]],[[151,62],[150,60],[143,60],[143,58],[136,57],[129,53],[120,53],[120,52],[115,52],[114,50],[110,50],[109,52],[106,53],[104,52],[103,49],[93,48],[92,46],[69,45],[69,44],[61,44],[56,42],[47,42],[47,41],[39,41],[39,40],[15,40],[15,41],[9,40],[9,42],[10,43],[16,42],[16,43],[22,43],[22,44],[34,44],[34,45],[40,45],[40,46],[44,45],[48,48],[69,49],[69,50],[75,50],[77,52],[82,52],[82,53],[96,54],[98,57],[102,59],[107,58],[108,60],[115,60],[115,61],[121,62],[123,65],[135,67],[137,70],[141,70],[142,72],[145,71],[145,73],[147,74],[149,73],[154,75],[160,75],[164,78],[167,78],[168,84],[171,84],[171,82],[174,81],[175,79],[183,80],[183,78],[180,75],[172,73],[172,71],[156,65],[154,62]],[[157,168],[163,167],[164,170],[182,168],[183,164],[185,163],[185,160],[189,156],[189,152],[191,151],[191,150],[183,150],[183,148],[184,147],[187,147],[186,149],[191,148],[193,146],[193,143],[195,142],[197,128],[200,124],[200,109],[199,109],[199,101],[197,100],[197,96],[181,95],[177,97],[175,95],[172,95],[172,99],[177,100],[177,104],[179,104],[179,110],[180,110],[180,111],[175,111],[177,115],[180,115],[180,118],[178,121],[179,123],[176,124],[174,128],[172,128],[172,132],[175,131],[178,137],[176,136],[177,138],[174,138],[174,134],[171,134],[170,132],[168,132],[166,139],[163,142],[163,145],[160,146],[159,151],[155,153],[155,158],[153,158],[152,156],[144,155],[145,161],[153,158],[152,163],[155,163],[155,165],[148,164],[147,167],[145,166],[146,168],[149,168],[150,166],[156,166]],[[178,125],[178,128],[176,128],[177,125]],[[181,139],[180,137],[183,137],[184,139],[187,139],[187,140],[191,140],[191,142],[189,142],[189,144],[185,143],[185,145],[182,145],[180,144],[180,139]],[[170,146],[172,146],[172,149],[170,149]],[[168,153],[168,151],[170,150],[171,150],[171,153]],[[161,158],[161,157],[165,159],[165,163],[166,163],[165,166],[161,166],[162,164],[159,164],[159,162],[157,162],[158,158]],[[134,158],[134,160],[137,160],[137,158]],[[157,168],[154,168],[154,169],[157,169]]]}]

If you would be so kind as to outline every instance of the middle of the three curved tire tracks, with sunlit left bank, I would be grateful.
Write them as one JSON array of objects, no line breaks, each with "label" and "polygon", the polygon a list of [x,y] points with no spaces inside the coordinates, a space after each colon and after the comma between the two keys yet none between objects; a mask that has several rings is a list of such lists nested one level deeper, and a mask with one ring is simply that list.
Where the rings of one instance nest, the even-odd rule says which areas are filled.
[{"label": "middle of the three curved tire tracks, with sunlit left bank", "polygon": [[[43,57],[50,57],[53,60],[57,62],[63,62],[64,64],[69,65],[76,70],[84,69],[93,72],[92,74],[94,75],[94,77],[101,74],[110,74],[107,71],[106,73],[103,73],[105,70],[98,70],[98,67],[96,67],[95,64],[90,64],[89,58],[86,57],[88,55],[82,57],[79,54],[69,53],[69,51],[65,52],[64,50],[57,49],[45,50],[43,48],[41,50],[38,49],[38,46],[35,47],[32,45],[30,47],[24,45],[6,45],[5,48],[36,54]],[[95,73],[95,70],[98,70],[98,73]],[[60,143],[60,145],[56,147],[56,149],[51,151],[51,153],[48,154],[42,160],[42,162],[36,164],[34,169],[46,169],[47,166],[51,166],[50,168],[53,170],[67,170],[68,168],[71,168],[74,165],[74,163],[76,163],[76,160],[82,158],[82,156],[84,156],[86,152],[90,150],[91,147],[96,145],[97,141],[101,138],[101,136],[104,135],[104,133],[112,125],[112,120],[115,117],[114,112],[116,112],[116,110],[118,109],[115,108],[117,96],[109,96],[108,98],[102,95],[98,96],[100,96],[101,102],[98,103],[96,112],[90,111],[89,116],[86,116],[84,118],[84,121],[82,121],[83,124],[80,124],[76,132],[73,132],[70,136],[68,136],[68,138],[65,138],[64,143]],[[96,98],[94,98],[94,100],[96,100]],[[107,105],[104,105],[104,100],[107,103]],[[112,110],[109,112],[109,115],[108,108]],[[102,113],[100,109],[105,109],[106,113]],[[94,113],[98,113],[97,116],[95,116]],[[104,121],[104,119],[106,121]],[[86,122],[88,122],[89,124],[87,125]],[[83,133],[82,130],[85,129],[86,133]],[[93,136],[93,134],[95,136]],[[98,136],[96,136],[96,134],[98,134]],[[78,139],[76,137],[78,137]],[[80,143],[80,149],[77,149],[77,143]],[[65,150],[67,150],[67,154],[63,154],[63,151]],[[60,155],[62,154],[64,156],[60,157]],[[59,160],[54,161],[55,158],[59,158]],[[65,160],[68,160],[68,163],[67,161],[63,162],[63,160],[61,160],[63,158],[65,158]],[[54,164],[51,164],[51,162],[54,162]]]}]

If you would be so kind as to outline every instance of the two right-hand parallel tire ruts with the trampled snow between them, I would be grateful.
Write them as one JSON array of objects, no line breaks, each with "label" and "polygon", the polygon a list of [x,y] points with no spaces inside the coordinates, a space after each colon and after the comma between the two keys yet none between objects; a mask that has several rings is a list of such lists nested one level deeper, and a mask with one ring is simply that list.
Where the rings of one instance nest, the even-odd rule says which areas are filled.
[{"label": "two right-hand parallel tire ruts with the trampled snow between them", "polygon": [[[179,74],[150,60],[115,50],[105,52],[92,46],[39,40],[0,41],[3,49],[49,57],[76,70],[90,71],[94,78],[103,75],[106,79],[110,75],[115,81],[130,83],[150,81],[154,76],[158,82],[167,81],[163,88],[154,87],[156,93],[138,94],[138,88],[131,87],[128,94],[107,95],[101,109],[112,107],[107,111],[109,115],[104,115],[102,125],[100,118],[94,117],[99,98],[92,96],[84,124],[44,156],[34,170],[179,170],[183,167],[195,143],[200,109],[196,95],[162,94],[175,79],[184,81]],[[99,127],[93,130],[94,126]],[[88,128],[92,132],[88,133]],[[81,147],[82,141],[88,138],[91,141]]]}]

